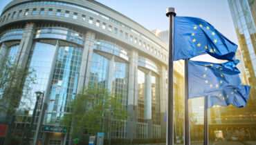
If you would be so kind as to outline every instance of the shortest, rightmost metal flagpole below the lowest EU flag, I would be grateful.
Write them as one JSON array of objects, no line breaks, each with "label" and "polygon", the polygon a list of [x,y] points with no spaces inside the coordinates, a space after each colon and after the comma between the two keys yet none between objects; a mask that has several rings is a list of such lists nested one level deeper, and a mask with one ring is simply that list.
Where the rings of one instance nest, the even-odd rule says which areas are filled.
[{"label": "shortest, rightmost metal flagpole below the lowest EU flag", "polygon": [[208,145],[208,97],[204,97],[203,145]]}]

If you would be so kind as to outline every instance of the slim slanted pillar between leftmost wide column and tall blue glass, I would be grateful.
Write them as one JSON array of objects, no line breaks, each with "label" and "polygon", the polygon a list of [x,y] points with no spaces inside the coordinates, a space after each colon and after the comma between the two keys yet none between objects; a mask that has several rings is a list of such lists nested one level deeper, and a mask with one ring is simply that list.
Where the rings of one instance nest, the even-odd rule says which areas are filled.
[{"label": "slim slanted pillar between leftmost wide column and tall blue glass", "polygon": [[41,133],[41,129],[42,129],[42,123],[44,122],[44,117],[45,117],[45,112],[46,112],[46,108],[47,108],[47,104],[48,104],[48,97],[49,97],[49,93],[51,90],[51,83],[53,81],[53,72],[55,70],[55,62],[57,60],[57,54],[59,52],[59,41],[56,41],[56,45],[55,45],[55,52],[53,55],[53,61],[51,64],[51,72],[47,81],[47,86],[46,86],[46,91],[44,92],[44,98],[43,98],[43,104],[42,104],[42,109],[39,113],[39,119],[37,122],[37,128],[35,131],[35,139],[33,141],[33,144],[38,144],[39,143],[39,138],[40,138],[40,133]]}]

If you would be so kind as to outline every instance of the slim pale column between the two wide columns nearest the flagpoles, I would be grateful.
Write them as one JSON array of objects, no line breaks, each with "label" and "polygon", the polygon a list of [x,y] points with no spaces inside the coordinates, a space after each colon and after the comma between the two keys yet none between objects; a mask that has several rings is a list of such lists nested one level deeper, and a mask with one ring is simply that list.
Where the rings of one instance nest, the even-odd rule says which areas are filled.
[{"label": "slim pale column between the two wide columns nearest the flagpoles", "polygon": [[145,93],[145,120],[147,122],[147,138],[152,138],[152,89],[151,89],[151,71],[146,75],[146,93]]}]

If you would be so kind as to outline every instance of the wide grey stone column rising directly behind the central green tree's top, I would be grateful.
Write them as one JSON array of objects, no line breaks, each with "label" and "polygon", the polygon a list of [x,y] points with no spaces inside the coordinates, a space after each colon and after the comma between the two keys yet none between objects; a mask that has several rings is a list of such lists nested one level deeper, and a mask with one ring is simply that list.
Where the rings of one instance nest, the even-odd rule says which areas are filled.
[{"label": "wide grey stone column rising directly behind the central green tree's top", "polygon": [[86,32],[84,39],[84,50],[82,53],[82,61],[79,72],[79,79],[77,84],[77,93],[82,91],[83,87],[88,86],[90,79],[91,62],[93,59],[93,46],[95,40],[95,33]]}]

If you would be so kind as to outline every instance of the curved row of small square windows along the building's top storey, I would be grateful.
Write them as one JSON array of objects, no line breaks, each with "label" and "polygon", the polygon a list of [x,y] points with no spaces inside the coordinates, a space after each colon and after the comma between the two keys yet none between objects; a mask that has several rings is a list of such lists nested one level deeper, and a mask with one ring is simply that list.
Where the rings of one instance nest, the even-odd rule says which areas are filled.
[{"label": "curved row of small square windows along the building's top storey", "polygon": [[21,17],[21,15],[27,16],[28,14],[31,14],[31,15],[39,14],[39,15],[49,15],[49,16],[54,14],[57,17],[67,17],[67,18],[72,17],[73,19],[80,19],[81,21],[87,21],[88,19],[87,21],[88,23],[95,25],[99,28],[102,28],[104,30],[107,30],[109,32],[113,32],[115,35],[118,35],[119,37],[132,41],[136,43],[138,46],[145,48],[147,51],[152,52],[154,55],[157,55],[161,59],[164,59],[165,61],[167,61],[168,59],[167,56],[164,55],[163,52],[159,50],[160,46],[158,46],[156,43],[154,43],[154,41],[151,41],[147,37],[140,35],[140,33],[137,32],[136,30],[131,30],[131,32],[134,32],[134,34],[140,37],[143,37],[144,39],[146,39],[147,41],[150,41],[151,43],[154,43],[154,45],[158,46],[158,48],[154,48],[153,46],[150,46],[145,41],[142,41],[141,39],[139,39],[138,37],[135,37],[134,35],[129,35],[128,32],[119,30],[118,28],[108,25],[107,23],[104,23],[98,19],[93,19],[93,17],[86,18],[85,14],[78,14],[77,12],[70,12],[68,10],[60,10],[60,9],[53,10],[53,8],[33,8],[33,9],[19,10],[18,12],[12,12],[12,14],[11,13],[7,14],[7,17],[6,15],[3,16],[3,19],[0,19],[0,22],[10,19],[10,16],[11,18],[15,18],[15,17]]}]

